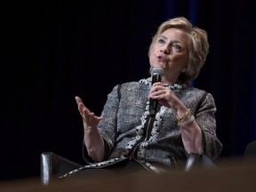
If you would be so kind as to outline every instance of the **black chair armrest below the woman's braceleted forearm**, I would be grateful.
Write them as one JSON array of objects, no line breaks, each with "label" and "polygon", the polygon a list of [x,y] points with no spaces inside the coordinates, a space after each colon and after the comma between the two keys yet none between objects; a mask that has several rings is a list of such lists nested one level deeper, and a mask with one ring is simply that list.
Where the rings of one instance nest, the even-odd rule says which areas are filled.
[{"label": "black chair armrest below the woman's braceleted forearm", "polygon": [[185,172],[194,170],[195,168],[217,169],[217,166],[204,154],[190,153],[185,164]]}]

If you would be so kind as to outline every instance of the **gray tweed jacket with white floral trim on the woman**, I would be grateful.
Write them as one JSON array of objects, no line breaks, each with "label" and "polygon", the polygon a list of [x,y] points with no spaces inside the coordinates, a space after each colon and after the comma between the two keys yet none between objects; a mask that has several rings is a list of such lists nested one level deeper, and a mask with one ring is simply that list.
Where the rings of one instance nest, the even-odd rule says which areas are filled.
[{"label": "gray tweed jacket with white floral trim on the woman", "polygon": [[[116,85],[108,94],[101,114],[104,119],[98,127],[105,141],[106,159],[100,163],[92,162],[85,148],[84,159],[89,165],[84,168],[104,167],[132,159],[148,170],[162,172],[163,166],[167,168],[185,162],[188,154],[181,140],[175,111],[159,106],[156,118],[148,117],[150,87],[151,82],[141,79]],[[212,160],[217,158],[222,144],[216,136],[216,107],[212,94],[178,84],[170,88],[193,111],[196,123],[203,131],[204,154]]]}]

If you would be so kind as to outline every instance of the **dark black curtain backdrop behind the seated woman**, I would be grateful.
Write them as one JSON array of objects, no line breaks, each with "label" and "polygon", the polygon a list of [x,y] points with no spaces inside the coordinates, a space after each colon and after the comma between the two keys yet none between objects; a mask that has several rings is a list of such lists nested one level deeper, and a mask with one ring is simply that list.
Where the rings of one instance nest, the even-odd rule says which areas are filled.
[{"label": "dark black curtain backdrop behind the seated woman", "polygon": [[252,3],[2,1],[0,179],[39,177],[43,151],[83,164],[74,97],[100,115],[114,85],[148,77],[151,37],[176,16],[208,31],[210,53],[194,84],[215,98],[220,159],[243,156],[256,138]]}]

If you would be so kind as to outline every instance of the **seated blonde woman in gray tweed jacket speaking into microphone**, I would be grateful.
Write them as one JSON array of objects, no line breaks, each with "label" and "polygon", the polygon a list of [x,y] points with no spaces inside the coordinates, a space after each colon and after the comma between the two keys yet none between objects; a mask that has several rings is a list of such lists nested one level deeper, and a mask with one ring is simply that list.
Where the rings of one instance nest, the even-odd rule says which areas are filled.
[{"label": "seated blonde woman in gray tweed jacket speaking into microphone", "polygon": [[[212,94],[189,85],[203,67],[208,50],[203,29],[183,17],[167,20],[158,28],[148,52],[150,69],[163,70],[161,82],[152,84],[149,77],[116,85],[101,116],[95,116],[76,97],[88,165],[65,176],[86,168],[125,167],[131,162],[163,172],[184,163],[190,153],[217,158],[222,145],[215,132]],[[156,116],[149,116],[149,100],[158,100]]]}]

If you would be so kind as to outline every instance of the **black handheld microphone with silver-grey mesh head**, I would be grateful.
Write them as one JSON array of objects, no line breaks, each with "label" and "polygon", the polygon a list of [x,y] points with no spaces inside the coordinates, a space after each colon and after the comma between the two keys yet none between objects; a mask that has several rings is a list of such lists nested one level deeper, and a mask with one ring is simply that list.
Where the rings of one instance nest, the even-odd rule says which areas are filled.
[{"label": "black handheld microphone with silver-grey mesh head", "polygon": [[[161,82],[161,78],[164,75],[163,68],[151,69],[152,85],[156,82]],[[149,100],[149,116],[155,117],[157,112],[158,100]]]}]

